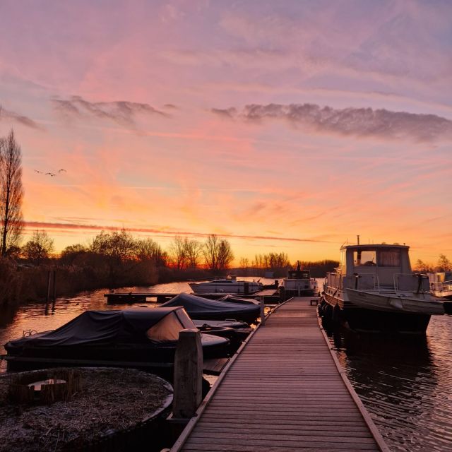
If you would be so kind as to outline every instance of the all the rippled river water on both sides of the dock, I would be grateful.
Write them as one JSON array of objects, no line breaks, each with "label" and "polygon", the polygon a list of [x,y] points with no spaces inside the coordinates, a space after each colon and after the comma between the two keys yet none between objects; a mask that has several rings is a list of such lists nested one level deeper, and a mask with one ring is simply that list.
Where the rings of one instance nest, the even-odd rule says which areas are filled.
[{"label": "all the rippled river water on both sides of the dock", "polygon": [[[191,292],[187,283],[127,287],[124,291]],[[0,354],[4,343],[20,338],[23,331],[58,328],[86,309],[130,307],[107,306],[104,293],[97,290],[59,298],[47,315],[42,304],[2,312]],[[332,335],[331,342],[391,451],[452,451],[452,316],[432,316],[423,338],[342,332]]]}]

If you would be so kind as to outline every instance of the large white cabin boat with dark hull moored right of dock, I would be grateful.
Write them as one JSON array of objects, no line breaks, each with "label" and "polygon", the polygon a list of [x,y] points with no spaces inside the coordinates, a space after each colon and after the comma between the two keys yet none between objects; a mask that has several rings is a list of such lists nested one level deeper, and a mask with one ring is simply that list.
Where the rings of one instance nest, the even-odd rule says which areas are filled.
[{"label": "large white cabin boat with dark hull moored right of dock", "polygon": [[424,333],[444,300],[414,273],[405,245],[347,245],[340,266],[326,275],[319,312],[355,330]]}]

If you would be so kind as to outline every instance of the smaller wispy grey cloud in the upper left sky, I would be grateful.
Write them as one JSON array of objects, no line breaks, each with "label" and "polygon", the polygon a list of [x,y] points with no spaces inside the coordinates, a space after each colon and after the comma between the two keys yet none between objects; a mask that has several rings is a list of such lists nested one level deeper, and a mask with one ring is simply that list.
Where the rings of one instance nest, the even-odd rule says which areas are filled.
[{"label": "smaller wispy grey cloud in the upper left sky", "polygon": [[161,112],[149,104],[126,100],[90,102],[81,96],[72,96],[69,99],[52,99],[52,104],[65,119],[95,117],[125,126],[135,126],[139,115],[169,117],[167,113]]}]

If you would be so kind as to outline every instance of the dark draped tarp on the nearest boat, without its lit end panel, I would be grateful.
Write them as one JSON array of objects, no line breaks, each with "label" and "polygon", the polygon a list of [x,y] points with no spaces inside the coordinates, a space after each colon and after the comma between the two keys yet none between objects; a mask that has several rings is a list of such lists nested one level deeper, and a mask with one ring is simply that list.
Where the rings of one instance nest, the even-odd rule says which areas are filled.
[{"label": "dark draped tarp on the nearest boat, without its lit end panel", "polygon": [[85,311],[56,330],[12,340],[16,347],[149,342],[145,332],[177,308]]}]

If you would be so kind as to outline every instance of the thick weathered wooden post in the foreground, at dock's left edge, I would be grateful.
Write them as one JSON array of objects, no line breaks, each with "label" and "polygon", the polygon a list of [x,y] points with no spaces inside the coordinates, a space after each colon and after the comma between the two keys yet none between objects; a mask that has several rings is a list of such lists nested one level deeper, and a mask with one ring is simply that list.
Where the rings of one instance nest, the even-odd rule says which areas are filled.
[{"label": "thick weathered wooden post in the foreground, at dock's left edge", "polygon": [[201,332],[198,329],[182,330],[174,356],[173,417],[189,418],[195,415],[202,400],[202,379]]}]

